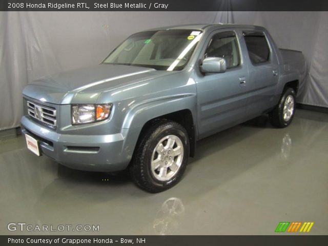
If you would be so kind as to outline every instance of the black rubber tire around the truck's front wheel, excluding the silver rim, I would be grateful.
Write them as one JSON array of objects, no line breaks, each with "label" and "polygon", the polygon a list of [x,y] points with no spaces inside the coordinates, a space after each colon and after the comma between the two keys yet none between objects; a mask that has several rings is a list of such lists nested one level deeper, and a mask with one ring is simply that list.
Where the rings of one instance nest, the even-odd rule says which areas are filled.
[{"label": "black rubber tire around the truck's front wheel, excluding the silver rim", "polygon": [[[158,180],[154,175],[155,171],[152,171],[151,167],[151,161],[154,154],[153,152],[155,151],[155,147],[159,144],[160,140],[172,135],[178,137],[180,139],[180,145],[182,143],[183,146],[183,153],[180,154],[180,166],[175,175],[169,180]],[[172,152],[174,152],[173,147]],[[138,187],[151,193],[158,193],[170,189],[180,181],[183,173],[185,172],[189,152],[189,137],[185,128],[174,121],[166,119],[155,121],[154,124],[147,129],[138,140],[131,165],[129,167],[132,180]],[[174,158],[175,157],[173,157],[172,160]],[[163,159],[159,158],[159,161],[163,162]],[[161,163],[161,165],[163,165],[163,163]],[[167,170],[168,171],[166,171],[166,173],[171,172],[170,169],[167,168]],[[172,172],[172,174],[173,173],[174,172]]]}]

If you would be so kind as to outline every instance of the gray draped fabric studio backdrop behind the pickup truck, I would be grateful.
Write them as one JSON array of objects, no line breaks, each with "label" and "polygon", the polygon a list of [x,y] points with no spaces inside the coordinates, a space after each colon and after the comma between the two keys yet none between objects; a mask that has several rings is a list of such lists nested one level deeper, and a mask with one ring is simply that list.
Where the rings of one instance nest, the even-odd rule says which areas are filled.
[{"label": "gray draped fabric studio backdrop behind the pickup truck", "polygon": [[98,64],[130,34],[188,23],[269,29],[308,62],[298,101],[328,107],[328,12],[0,12],[0,130],[19,126],[22,90],[47,74]]}]

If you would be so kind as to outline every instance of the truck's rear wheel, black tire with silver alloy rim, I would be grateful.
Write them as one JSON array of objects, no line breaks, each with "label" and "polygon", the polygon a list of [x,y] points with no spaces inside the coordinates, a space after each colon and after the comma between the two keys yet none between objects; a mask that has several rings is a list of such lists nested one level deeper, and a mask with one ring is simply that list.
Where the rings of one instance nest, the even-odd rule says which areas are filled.
[{"label": "truck's rear wheel, black tire with silver alloy rim", "polygon": [[282,94],[278,105],[269,113],[271,125],[279,128],[291,124],[295,113],[295,91],[288,88]]}]

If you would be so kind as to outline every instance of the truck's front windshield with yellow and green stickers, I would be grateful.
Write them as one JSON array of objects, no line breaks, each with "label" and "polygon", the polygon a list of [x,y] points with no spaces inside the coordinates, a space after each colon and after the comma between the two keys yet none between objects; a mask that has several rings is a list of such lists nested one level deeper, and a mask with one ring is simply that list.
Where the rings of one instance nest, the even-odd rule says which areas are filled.
[{"label": "truck's front windshield with yellow and green stickers", "polygon": [[133,34],[104,61],[105,64],[182,70],[202,33],[196,30],[161,30]]}]

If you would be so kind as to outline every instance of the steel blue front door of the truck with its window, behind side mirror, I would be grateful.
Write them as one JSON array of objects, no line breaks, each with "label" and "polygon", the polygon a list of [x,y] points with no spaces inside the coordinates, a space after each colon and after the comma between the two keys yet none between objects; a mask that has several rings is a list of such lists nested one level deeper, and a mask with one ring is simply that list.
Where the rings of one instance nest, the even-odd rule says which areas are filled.
[{"label": "steel blue front door of the truck with its window, behind side mirror", "polygon": [[247,110],[248,68],[240,52],[241,32],[224,29],[213,32],[207,39],[199,57],[226,59],[224,73],[202,73],[195,68],[198,103],[199,137],[239,124]]}]

